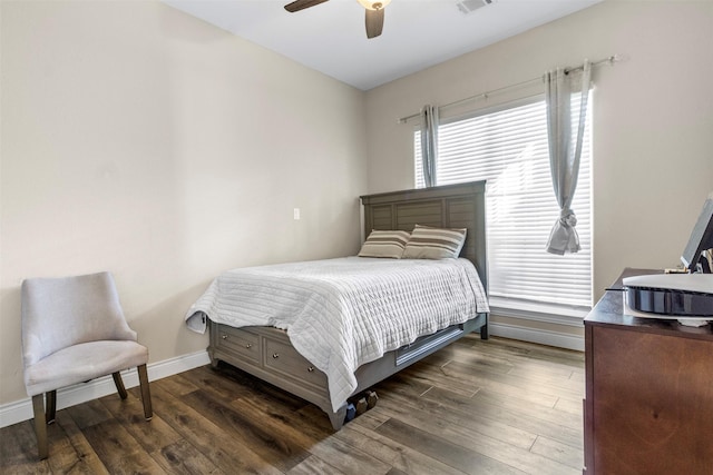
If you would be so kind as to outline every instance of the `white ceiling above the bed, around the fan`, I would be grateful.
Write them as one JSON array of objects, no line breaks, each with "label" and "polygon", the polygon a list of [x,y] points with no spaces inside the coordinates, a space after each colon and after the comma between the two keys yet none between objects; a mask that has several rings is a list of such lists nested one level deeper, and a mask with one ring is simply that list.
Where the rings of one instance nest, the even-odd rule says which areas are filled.
[{"label": "white ceiling above the bed, around the fan", "polygon": [[383,33],[367,39],[356,0],[289,13],[290,0],[163,0],[340,81],[368,90],[518,34],[602,0],[393,0]]}]

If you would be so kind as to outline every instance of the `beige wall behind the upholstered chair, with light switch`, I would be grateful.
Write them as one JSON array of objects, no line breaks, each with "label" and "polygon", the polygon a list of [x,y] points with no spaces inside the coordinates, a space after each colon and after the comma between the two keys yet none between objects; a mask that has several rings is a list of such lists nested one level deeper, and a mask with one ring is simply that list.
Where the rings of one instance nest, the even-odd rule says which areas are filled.
[{"label": "beige wall behind the upholstered chair, with light switch", "polygon": [[205,349],[183,316],[219,271],[358,250],[362,91],[159,2],[1,16],[0,404],[23,278],[111,270],[155,363]]}]

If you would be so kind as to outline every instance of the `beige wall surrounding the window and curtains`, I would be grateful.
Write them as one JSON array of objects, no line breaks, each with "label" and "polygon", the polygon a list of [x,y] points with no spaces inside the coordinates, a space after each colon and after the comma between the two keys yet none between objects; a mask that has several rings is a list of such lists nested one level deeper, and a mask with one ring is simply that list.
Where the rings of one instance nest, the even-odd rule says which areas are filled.
[{"label": "beige wall surrounding the window and curtains", "polygon": [[[595,298],[625,266],[676,266],[713,190],[711,1],[607,0],[370,90],[370,192],[413,186],[418,119],[398,118],[614,53],[628,60],[594,73]],[[514,89],[470,108],[540,91]]]}]

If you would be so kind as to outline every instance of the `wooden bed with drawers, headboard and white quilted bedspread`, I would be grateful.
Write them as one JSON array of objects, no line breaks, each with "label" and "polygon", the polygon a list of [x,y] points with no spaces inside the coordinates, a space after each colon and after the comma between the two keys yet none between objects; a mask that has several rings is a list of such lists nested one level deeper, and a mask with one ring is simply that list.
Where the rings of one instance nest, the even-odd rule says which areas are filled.
[{"label": "wooden bed with drawers, headboard and white quilted bedspread", "polygon": [[[235,269],[212,283],[187,311],[186,324],[196,331],[209,329],[208,355],[214,366],[227,363],[315,404],[339,431],[346,417],[350,396],[468,333],[479,331],[487,339],[484,194],[485,181],[476,181],[361,197],[364,236],[372,230],[411,231],[417,225],[465,228],[467,237],[459,259],[346,257]],[[433,273],[434,281],[414,280],[414,287],[410,287],[414,290],[409,290],[408,298],[392,298],[394,290],[388,285],[408,281],[412,275],[423,273]],[[340,280],[342,274],[349,275],[346,280]],[[359,297],[354,304],[344,296],[362,295],[361,286],[368,297]],[[470,294],[459,297],[461,287],[463,293],[479,287],[481,294],[471,303]],[[336,310],[332,315],[335,307],[349,313],[377,307],[378,318],[391,321],[391,314],[428,313],[424,307],[438,299],[423,295],[437,294],[463,300],[463,305],[447,311],[449,319],[404,324],[402,335],[389,337],[384,344],[350,347],[352,340],[371,342],[371,333],[390,336],[392,331],[382,331],[380,327],[395,324],[373,320],[354,326]],[[382,295],[389,300],[383,308]],[[285,320],[273,314],[290,316]],[[322,314],[326,316],[324,323],[316,324],[316,316]],[[397,346],[398,342],[406,344]]]}]

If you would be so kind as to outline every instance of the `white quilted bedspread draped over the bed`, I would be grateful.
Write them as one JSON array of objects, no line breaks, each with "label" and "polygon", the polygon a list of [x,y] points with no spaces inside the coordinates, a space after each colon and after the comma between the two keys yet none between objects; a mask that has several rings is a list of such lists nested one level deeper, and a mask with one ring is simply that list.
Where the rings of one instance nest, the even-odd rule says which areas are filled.
[{"label": "white quilted bedspread draped over the bed", "polygon": [[328,376],[333,410],[356,388],[354,370],[384,353],[489,311],[467,259],[345,257],[229,270],[186,314],[234,327],[287,330],[294,348]]}]

